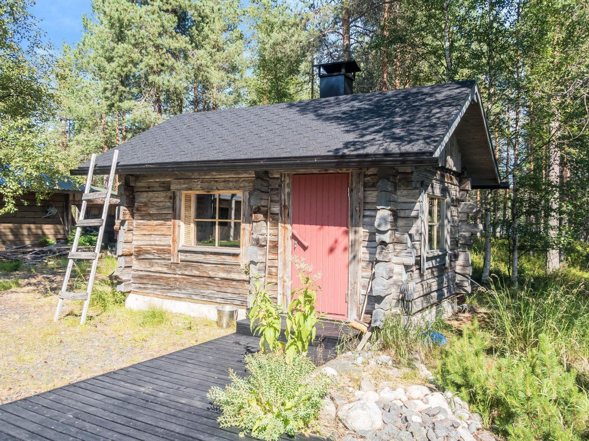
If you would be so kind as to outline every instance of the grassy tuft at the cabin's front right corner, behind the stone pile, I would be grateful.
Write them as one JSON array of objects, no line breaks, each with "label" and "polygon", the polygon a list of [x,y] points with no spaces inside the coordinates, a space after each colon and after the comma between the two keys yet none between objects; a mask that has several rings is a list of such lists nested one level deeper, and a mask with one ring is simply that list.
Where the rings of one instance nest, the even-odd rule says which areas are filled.
[{"label": "grassy tuft at the cabin's front right corner, behind the stone pile", "polygon": [[422,359],[429,359],[437,348],[426,334],[445,332],[449,328],[442,316],[436,317],[433,322],[427,322],[406,320],[401,314],[388,314],[382,328],[373,333],[371,342],[376,349],[388,352],[398,365],[412,367],[416,354]]}]

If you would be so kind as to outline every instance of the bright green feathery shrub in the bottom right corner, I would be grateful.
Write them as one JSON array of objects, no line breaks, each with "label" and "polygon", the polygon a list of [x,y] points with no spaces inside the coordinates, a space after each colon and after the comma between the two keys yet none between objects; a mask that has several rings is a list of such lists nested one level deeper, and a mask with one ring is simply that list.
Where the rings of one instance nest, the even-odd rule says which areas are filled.
[{"label": "bright green feathery shrub in the bottom right corner", "polygon": [[475,321],[454,338],[438,366],[442,384],[458,392],[511,441],[582,440],[589,399],[575,371],[561,365],[548,336],[525,353],[488,355],[492,336]]}]

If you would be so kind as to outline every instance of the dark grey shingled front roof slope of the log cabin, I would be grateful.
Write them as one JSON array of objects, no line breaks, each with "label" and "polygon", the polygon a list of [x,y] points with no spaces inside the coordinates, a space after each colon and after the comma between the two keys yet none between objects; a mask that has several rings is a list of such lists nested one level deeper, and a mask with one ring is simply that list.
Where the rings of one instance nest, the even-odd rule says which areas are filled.
[{"label": "dark grey shingled front roof slope of the log cabin", "polygon": [[[183,113],[121,143],[119,167],[431,155],[474,85],[474,81],[462,81]],[[100,155],[97,166],[110,166],[111,158],[112,151]],[[86,163],[81,169],[87,167]]]}]

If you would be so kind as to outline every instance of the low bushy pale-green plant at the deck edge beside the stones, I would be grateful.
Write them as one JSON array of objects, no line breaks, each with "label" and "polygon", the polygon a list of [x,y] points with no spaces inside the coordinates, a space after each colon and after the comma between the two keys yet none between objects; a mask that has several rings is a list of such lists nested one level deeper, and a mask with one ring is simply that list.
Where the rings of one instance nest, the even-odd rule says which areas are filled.
[{"label": "low bushy pale-green plant at the deck edge beside the stones", "polygon": [[240,436],[269,441],[307,434],[327,395],[327,376],[313,376],[315,365],[306,357],[287,361],[282,352],[246,355],[245,363],[245,378],[230,370],[231,384],[207,394],[221,408],[221,427],[238,426]]}]

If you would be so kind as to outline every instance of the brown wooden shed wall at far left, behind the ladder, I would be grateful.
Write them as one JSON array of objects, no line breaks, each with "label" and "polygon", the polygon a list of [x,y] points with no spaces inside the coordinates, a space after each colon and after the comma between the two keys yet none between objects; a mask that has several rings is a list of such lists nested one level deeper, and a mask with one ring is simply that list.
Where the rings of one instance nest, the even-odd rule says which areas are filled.
[{"label": "brown wooden shed wall at far left, behind the ladder", "polygon": [[[67,194],[54,193],[37,205],[34,193],[23,195],[20,199],[27,201],[27,205],[19,200],[16,212],[0,216],[0,247],[32,244],[44,237],[64,240],[66,233],[63,222],[67,198]],[[49,203],[53,203],[58,212],[44,218],[42,216],[47,215],[45,206]],[[4,200],[0,199],[0,207],[3,206]]]}]

